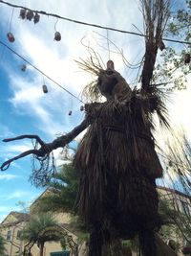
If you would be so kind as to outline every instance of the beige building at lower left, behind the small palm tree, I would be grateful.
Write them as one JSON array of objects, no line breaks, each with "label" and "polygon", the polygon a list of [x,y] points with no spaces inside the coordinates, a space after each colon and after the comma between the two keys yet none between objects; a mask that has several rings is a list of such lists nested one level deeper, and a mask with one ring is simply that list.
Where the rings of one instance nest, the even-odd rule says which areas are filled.
[{"label": "beige building at lower left, behind the small palm tree", "polygon": [[[19,239],[19,235],[23,227],[29,221],[30,215],[18,212],[11,212],[4,221],[0,223],[0,234],[5,238],[7,244],[6,256],[21,256],[26,247],[26,243]],[[43,256],[73,256],[78,250],[79,256],[85,255],[86,247],[84,244],[77,243],[77,234],[71,231],[69,222],[70,216],[67,214],[57,214],[56,221],[59,223],[59,232],[64,235],[69,249],[63,250],[60,243],[45,243]],[[45,230],[50,232],[50,229]],[[31,244],[29,244],[31,245]],[[27,247],[26,247],[27,248]],[[32,244],[32,256],[39,256],[40,248],[38,244]]]}]

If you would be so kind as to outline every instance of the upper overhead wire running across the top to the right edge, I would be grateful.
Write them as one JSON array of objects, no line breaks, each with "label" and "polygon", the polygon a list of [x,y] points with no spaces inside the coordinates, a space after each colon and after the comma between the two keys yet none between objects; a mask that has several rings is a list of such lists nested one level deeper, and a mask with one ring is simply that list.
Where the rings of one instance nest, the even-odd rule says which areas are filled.
[{"label": "upper overhead wire running across the top to the right edge", "polygon": [[[117,33],[130,34],[130,35],[138,35],[138,36],[147,37],[147,35],[143,35],[143,34],[140,34],[140,33],[125,31],[125,30],[119,30],[119,29],[115,29],[115,28],[112,28],[112,27],[106,27],[106,26],[101,26],[101,25],[94,24],[94,23],[88,23],[88,22],[84,22],[84,21],[80,21],[80,20],[75,20],[75,19],[72,19],[72,18],[60,16],[58,14],[54,14],[54,13],[51,13],[51,12],[32,10],[30,8],[27,8],[27,7],[24,7],[24,6],[20,6],[20,5],[14,5],[14,4],[11,4],[11,3],[3,1],[3,0],[0,0],[0,3],[8,5],[8,6],[11,6],[13,8],[25,9],[25,10],[28,10],[28,11],[32,11],[32,12],[36,12],[36,13],[42,14],[42,15],[53,16],[53,17],[56,17],[58,19],[67,20],[69,22],[74,22],[76,24],[80,24],[80,25],[84,25],[84,26],[90,26],[90,27],[95,27],[97,29],[114,31],[114,32],[117,32]],[[169,41],[169,42],[175,42],[175,43],[191,45],[191,42],[187,42],[187,41],[170,39],[170,38],[161,38],[161,39],[163,41]]]}]

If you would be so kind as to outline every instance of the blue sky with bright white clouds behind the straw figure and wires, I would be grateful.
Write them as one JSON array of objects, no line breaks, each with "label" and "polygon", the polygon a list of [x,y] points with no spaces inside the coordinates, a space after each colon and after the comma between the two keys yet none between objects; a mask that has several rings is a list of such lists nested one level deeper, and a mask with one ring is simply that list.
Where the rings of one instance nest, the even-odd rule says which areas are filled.
[{"label": "blue sky with bright white clouds behind the straw figure and wires", "polygon": [[[110,0],[9,2],[101,26],[143,32],[138,0],[113,1],[112,4]],[[178,3],[180,1],[176,5]],[[88,46],[96,50],[104,63],[112,58],[116,69],[130,84],[135,84],[137,73],[124,65],[121,52],[129,62],[137,64],[144,54],[143,37],[100,30],[45,15],[41,15],[40,22],[34,25],[32,21],[18,18],[19,11],[0,3],[0,40],[78,99],[92,77],[82,72],[74,60],[89,58]],[[8,32],[15,37],[13,43],[7,39]],[[60,32],[61,41],[53,39],[55,32]],[[27,133],[38,134],[51,142],[83,120],[84,113],[79,110],[83,104],[32,66],[26,64],[26,71],[21,71],[23,64],[26,64],[23,59],[0,45],[0,140]],[[47,94],[42,91],[43,84],[48,87]],[[191,120],[187,118],[187,109],[191,107],[191,88],[174,93],[171,98],[169,109],[173,124],[182,126],[189,133]],[[73,111],[71,116],[68,114],[70,110]],[[31,148],[32,142],[27,139],[0,142],[0,163]],[[55,156],[58,156],[57,151]],[[26,157],[0,173],[0,221],[9,212],[20,210],[16,205],[18,201],[30,203],[42,193],[43,189],[37,189],[29,182],[31,172],[31,158]]]}]

